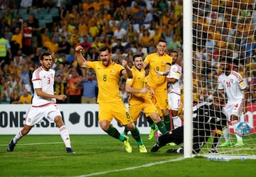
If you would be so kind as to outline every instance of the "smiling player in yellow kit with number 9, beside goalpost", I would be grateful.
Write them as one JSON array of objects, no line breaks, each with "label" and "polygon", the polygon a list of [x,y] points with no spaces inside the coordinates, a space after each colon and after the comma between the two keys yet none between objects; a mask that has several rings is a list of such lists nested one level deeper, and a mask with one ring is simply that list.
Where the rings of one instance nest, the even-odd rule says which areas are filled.
[{"label": "smiling player in yellow kit with number 9, beside goalpost", "polygon": [[169,116],[169,102],[167,96],[166,75],[171,69],[172,58],[166,53],[166,40],[159,39],[156,45],[156,53],[151,53],[144,60],[144,68],[149,66],[149,75],[146,79],[146,85],[154,90],[154,97],[164,115],[164,124],[166,129],[171,129],[171,119]]}]

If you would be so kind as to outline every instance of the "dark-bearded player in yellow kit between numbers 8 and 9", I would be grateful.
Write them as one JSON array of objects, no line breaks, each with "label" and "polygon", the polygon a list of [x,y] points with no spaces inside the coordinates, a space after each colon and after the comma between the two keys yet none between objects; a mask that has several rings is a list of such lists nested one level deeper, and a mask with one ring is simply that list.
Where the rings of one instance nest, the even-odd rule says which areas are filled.
[{"label": "dark-bearded player in yellow kit between numbers 8 and 9", "polygon": [[[164,122],[161,121],[159,113],[151,101],[151,88],[146,87],[146,76],[143,68],[142,55],[134,54],[132,79],[127,79],[125,90],[129,93],[129,114],[133,122],[137,122],[141,112],[144,112],[146,117],[150,117],[152,121],[159,127],[159,131],[164,134],[167,132]],[[129,130],[124,129],[124,134]]]}]

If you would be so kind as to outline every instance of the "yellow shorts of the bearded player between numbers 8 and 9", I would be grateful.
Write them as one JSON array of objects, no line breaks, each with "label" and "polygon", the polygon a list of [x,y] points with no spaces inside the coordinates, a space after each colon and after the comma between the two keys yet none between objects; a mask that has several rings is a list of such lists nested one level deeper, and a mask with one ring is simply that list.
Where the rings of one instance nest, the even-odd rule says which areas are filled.
[{"label": "yellow shorts of the bearded player between numbers 8 and 9", "polygon": [[144,112],[146,117],[148,117],[152,113],[158,113],[156,107],[151,100],[145,100],[141,104],[129,104],[129,114],[131,115],[133,122],[136,122],[137,119],[139,119],[141,111]]}]

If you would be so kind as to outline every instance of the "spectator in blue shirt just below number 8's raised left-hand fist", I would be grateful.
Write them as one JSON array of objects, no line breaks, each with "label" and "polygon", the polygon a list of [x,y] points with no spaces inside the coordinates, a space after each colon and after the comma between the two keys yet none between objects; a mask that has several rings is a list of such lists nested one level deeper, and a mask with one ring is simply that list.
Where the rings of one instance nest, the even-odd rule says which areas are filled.
[{"label": "spectator in blue shirt just below number 8's raised left-hand fist", "polygon": [[97,81],[95,80],[95,73],[89,71],[82,80],[82,103],[96,104],[97,101]]}]

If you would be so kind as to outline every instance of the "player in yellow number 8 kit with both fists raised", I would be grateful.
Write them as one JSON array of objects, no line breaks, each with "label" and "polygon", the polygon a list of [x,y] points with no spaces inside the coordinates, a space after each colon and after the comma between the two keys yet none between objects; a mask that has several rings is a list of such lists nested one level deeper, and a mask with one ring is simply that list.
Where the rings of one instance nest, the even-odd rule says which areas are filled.
[{"label": "player in yellow number 8 kit with both fists raised", "polygon": [[132,146],[129,144],[129,137],[118,132],[116,128],[110,124],[112,119],[117,120],[124,125],[132,133],[137,141],[140,152],[146,152],[146,147],[142,142],[139,129],[132,122],[127,108],[122,102],[119,95],[119,80],[121,75],[126,78],[132,78],[132,70],[127,65],[127,61],[123,60],[122,65],[118,65],[112,61],[111,49],[108,46],[100,48],[100,61],[87,61],[82,56],[82,46],[75,48],[75,55],[78,63],[82,68],[92,68],[97,76],[97,84],[99,93],[97,102],[99,103],[99,122],[100,127],[110,136],[124,142],[124,148],[128,153],[132,152]]}]

